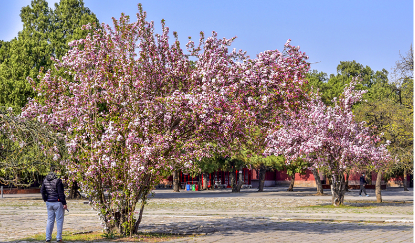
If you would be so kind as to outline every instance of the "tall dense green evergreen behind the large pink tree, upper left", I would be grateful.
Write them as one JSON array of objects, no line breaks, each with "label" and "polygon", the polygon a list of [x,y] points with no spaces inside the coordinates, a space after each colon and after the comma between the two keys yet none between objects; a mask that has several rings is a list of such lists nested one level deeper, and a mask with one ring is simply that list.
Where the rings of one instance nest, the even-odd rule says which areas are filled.
[{"label": "tall dense green evergreen behind the large pink tree, upper left", "polygon": [[20,16],[23,30],[17,38],[0,41],[0,105],[16,112],[36,95],[27,77],[37,82],[41,67],[54,70],[51,57],[61,58],[69,41],[88,34],[82,25],[98,22],[83,0],[61,0],[55,9],[46,0],[32,0]]}]

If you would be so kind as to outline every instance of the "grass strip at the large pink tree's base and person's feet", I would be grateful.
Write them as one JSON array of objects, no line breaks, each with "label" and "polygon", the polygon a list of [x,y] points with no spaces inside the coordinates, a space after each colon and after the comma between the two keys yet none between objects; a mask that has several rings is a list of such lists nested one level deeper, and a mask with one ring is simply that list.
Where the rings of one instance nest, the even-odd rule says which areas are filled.
[{"label": "grass strip at the large pink tree's base and person's feet", "polygon": [[[38,234],[32,237],[21,239],[22,241],[37,242],[45,241],[45,234]],[[179,238],[184,238],[181,235],[174,234],[162,234],[162,233],[139,233],[133,237],[123,238],[117,235],[113,235],[112,238],[105,237],[102,232],[93,232],[81,235],[72,235],[71,233],[62,234],[62,240],[64,242],[147,242],[147,243],[158,243],[171,241]],[[56,233],[52,235],[52,242],[56,240]]]}]

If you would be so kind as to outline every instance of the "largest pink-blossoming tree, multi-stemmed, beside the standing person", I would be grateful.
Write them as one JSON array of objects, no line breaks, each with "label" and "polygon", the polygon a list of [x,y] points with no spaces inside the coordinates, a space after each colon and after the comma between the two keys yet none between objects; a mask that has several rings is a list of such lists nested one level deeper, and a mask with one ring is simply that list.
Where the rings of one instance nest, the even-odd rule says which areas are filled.
[{"label": "largest pink-blossoming tree, multi-stemmed, beside the standing person", "polygon": [[92,197],[107,232],[122,235],[137,232],[162,172],[233,151],[249,131],[275,125],[281,111],[298,105],[309,67],[305,53],[288,42],[282,52],[250,59],[229,52],[234,38],[215,32],[201,34],[198,46],[189,40],[198,57],[193,65],[176,33],[169,44],[164,20],[156,34],[141,5],[137,18],[130,23],[122,14],[113,28],[103,24],[70,42],[72,49],[55,59],[67,76],[48,71],[33,84],[47,99],[30,100],[23,112],[67,135],[68,170]]}]

